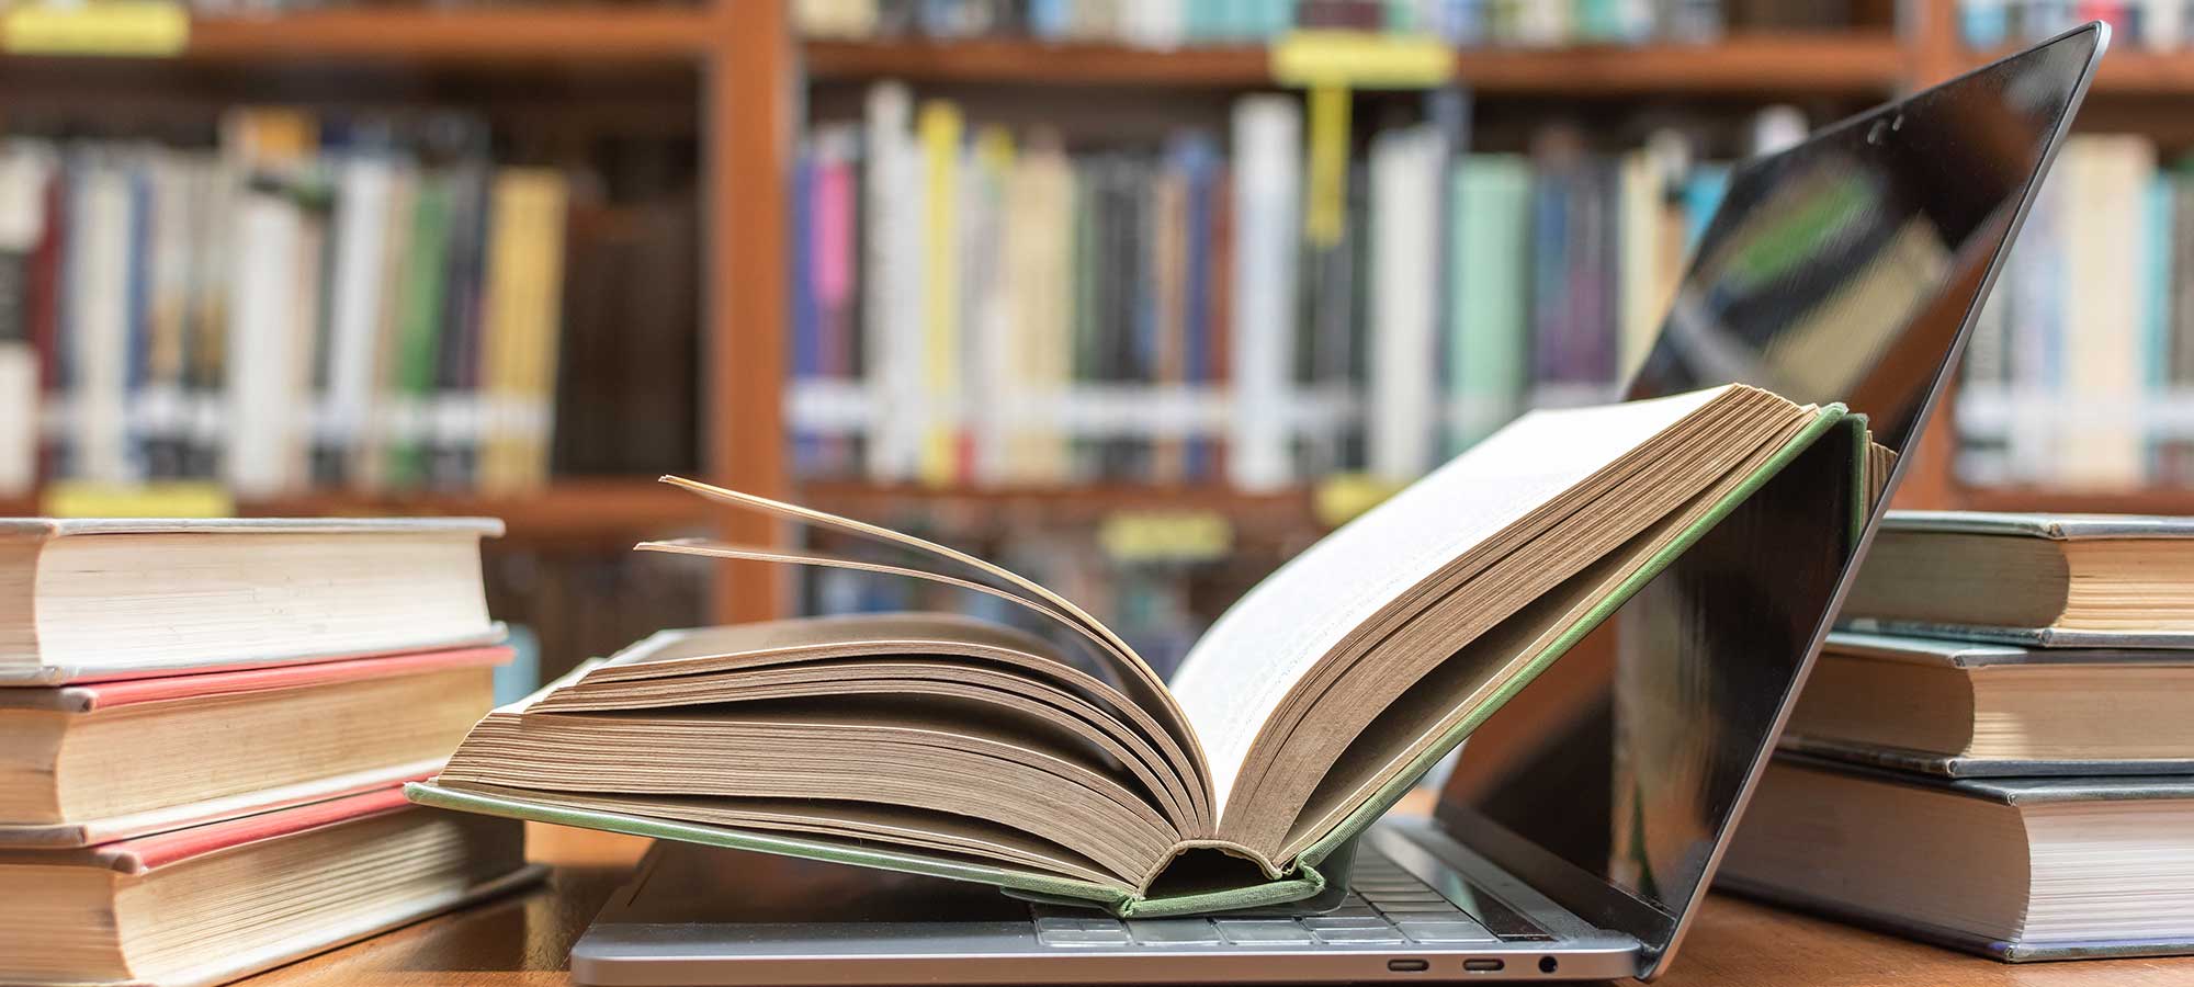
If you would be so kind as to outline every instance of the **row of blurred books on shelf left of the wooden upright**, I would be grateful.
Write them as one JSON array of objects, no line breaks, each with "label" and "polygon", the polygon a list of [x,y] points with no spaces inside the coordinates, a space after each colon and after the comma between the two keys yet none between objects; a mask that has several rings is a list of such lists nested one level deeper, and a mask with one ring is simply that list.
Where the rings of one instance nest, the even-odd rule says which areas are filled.
[{"label": "row of blurred books on shelf left of the wooden upright", "polygon": [[470,118],[0,145],[0,491],[544,483],[568,182]]}]

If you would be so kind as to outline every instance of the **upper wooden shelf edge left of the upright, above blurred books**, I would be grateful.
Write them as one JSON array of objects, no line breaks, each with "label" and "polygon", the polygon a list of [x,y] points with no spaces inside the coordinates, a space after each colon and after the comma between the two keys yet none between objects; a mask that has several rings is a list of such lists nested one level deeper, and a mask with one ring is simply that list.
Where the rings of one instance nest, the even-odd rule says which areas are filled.
[{"label": "upper wooden shelf edge left of the upright, above blurred books", "polygon": [[713,50],[715,33],[717,20],[704,7],[360,7],[197,18],[180,59],[693,61]]}]

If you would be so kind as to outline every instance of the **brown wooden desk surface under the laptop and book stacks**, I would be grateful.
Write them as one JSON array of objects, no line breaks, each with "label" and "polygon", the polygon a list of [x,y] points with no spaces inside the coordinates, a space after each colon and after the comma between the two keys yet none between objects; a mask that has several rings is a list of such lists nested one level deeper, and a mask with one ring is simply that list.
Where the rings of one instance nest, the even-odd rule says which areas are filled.
[{"label": "brown wooden desk surface under the laptop and book stacks", "polygon": [[[647,840],[529,827],[531,855],[557,864],[546,884],[463,912],[292,963],[248,987],[566,985],[564,954],[625,880]],[[1632,983],[1632,980],[1626,980]],[[1714,895],[1667,987],[2150,987],[2194,985],[2194,958],[2003,965],[1931,945]]]}]

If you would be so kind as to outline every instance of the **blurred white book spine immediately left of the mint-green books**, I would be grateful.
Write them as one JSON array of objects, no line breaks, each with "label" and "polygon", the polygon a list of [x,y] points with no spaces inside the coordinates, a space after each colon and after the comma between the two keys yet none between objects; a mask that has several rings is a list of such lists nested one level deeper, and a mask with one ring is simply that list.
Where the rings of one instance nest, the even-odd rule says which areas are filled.
[{"label": "blurred white book spine immediately left of the mint-green books", "polygon": [[1439,257],[1430,129],[1382,134],[1371,145],[1371,428],[1369,467],[1409,483],[1433,467],[1439,358],[1433,338],[1433,265]]}]

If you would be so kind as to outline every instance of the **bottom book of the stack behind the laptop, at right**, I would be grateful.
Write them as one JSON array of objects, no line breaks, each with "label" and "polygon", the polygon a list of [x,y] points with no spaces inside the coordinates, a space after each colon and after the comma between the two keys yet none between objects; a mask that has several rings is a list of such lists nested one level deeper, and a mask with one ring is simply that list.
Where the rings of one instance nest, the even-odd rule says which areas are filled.
[{"label": "bottom book of the stack behind the laptop, at right", "polygon": [[1777,755],[1716,886],[2001,961],[2194,952],[2194,779]]}]

